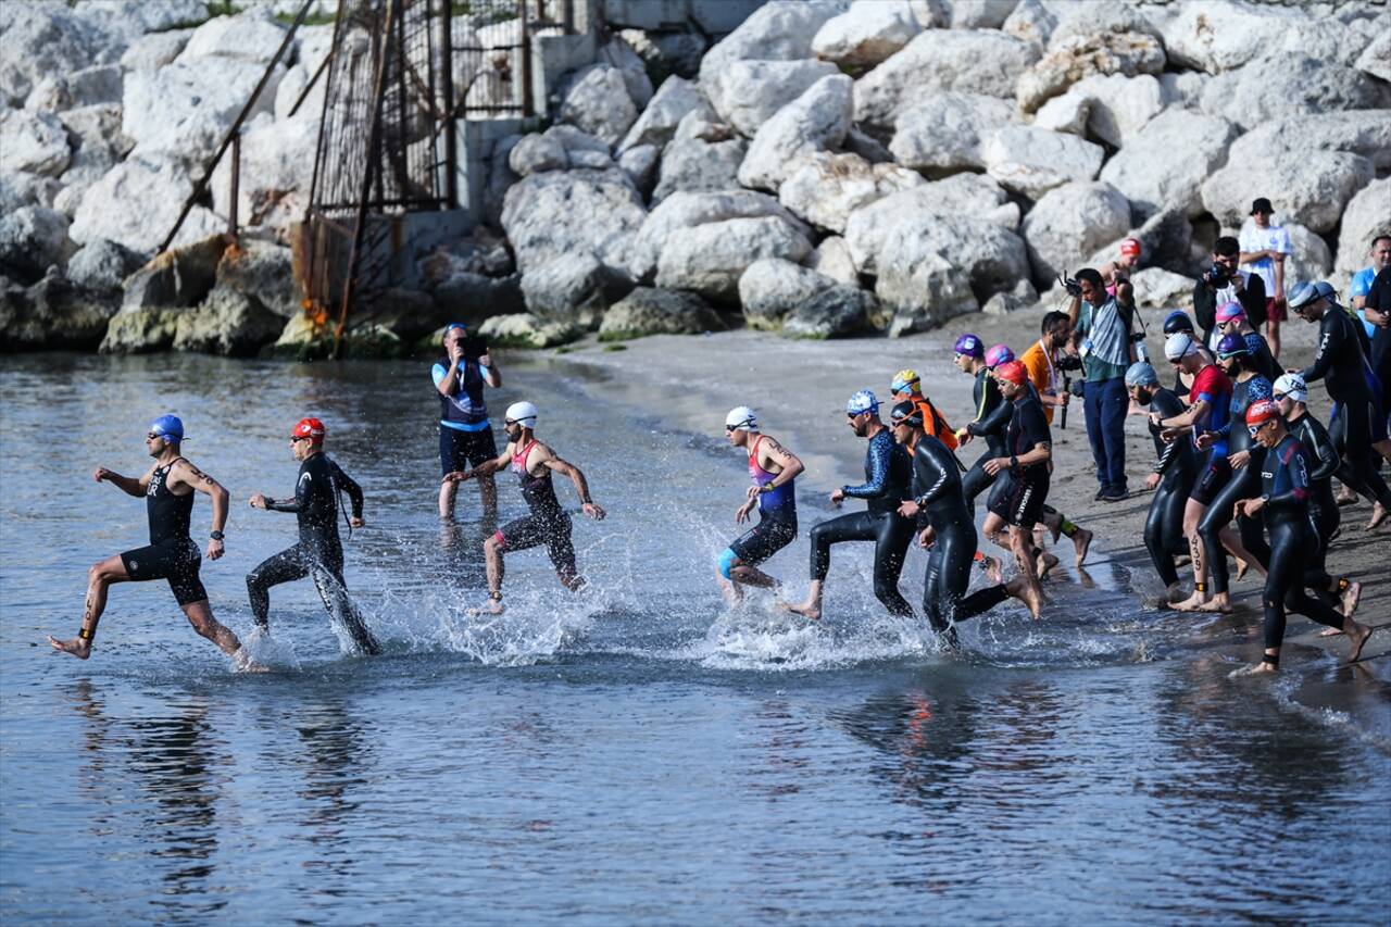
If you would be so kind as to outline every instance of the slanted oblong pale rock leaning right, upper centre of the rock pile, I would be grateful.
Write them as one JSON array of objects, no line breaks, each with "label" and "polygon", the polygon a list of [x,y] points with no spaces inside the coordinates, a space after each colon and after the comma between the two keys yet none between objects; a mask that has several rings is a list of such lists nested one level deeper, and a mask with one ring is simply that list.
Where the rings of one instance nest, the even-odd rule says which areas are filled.
[{"label": "slanted oblong pale rock leaning right, upper centre of the rock pile", "polygon": [[794,157],[840,148],[854,113],[851,89],[851,79],[843,74],[825,77],[779,110],[754,135],[739,166],[739,182],[776,191]]}]

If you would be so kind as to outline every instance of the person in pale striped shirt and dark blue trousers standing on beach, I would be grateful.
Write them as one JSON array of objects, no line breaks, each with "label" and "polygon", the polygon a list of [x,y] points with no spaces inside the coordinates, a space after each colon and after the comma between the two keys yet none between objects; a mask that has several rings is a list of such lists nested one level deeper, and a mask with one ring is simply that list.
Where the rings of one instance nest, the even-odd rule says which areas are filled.
[{"label": "person in pale striped shirt and dark blue trousers standing on beach", "polygon": [[1085,386],[1082,391],[1086,411],[1086,438],[1092,444],[1096,462],[1096,500],[1114,502],[1125,498],[1125,369],[1135,359],[1129,341],[1129,326],[1121,303],[1131,303],[1129,283],[1120,283],[1116,295],[1106,292],[1102,274],[1093,267],[1077,271],[1077,281],[1068,281],[1072,305],[1068,323],[1072,340],[1082,356]]}]

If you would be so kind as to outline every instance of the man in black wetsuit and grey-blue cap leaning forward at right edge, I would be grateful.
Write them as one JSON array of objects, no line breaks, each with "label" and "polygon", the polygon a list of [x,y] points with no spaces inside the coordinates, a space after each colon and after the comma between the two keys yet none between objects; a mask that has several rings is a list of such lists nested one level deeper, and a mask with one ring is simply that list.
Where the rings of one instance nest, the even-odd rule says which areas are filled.
[{"label": "man in black wetsuit and grey-blue cap leaning forward at right edge", "polygon": [[1376,501],[1377,511],[1367,528],[1377,528],[1391,511],[1391,489],[1378,472],[1377,451],[1387,454],[1391,445],[1381,434],[1384,427],[1376,427],[1373,422],[1380,404],[1372,390],[1374,380],[1369,376],[1372,367],[1362,349],[1358,322],[1308,283],[1298,283],[1289,290],[1288,305],[1305,322],[1319,323],[1319,349],[1313,363],[1289,373],[1299,373],[1305,383],[1324,380],[1328,395],[1338,404],[1330,431],[1348,465],[1340,479]]}]

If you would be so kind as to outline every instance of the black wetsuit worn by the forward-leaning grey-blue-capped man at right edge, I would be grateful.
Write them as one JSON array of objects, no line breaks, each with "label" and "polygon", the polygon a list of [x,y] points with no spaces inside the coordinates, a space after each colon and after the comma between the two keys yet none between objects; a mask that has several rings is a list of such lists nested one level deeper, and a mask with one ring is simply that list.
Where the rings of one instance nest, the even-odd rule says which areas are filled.
[{"label": "black wetsuit worn by the forward-leaning grey-blue-capped man at right edge", "polygon": [[1380,402],[1367,383],[1370,367],[1363,352],[1365,337],[1362,323],[1341,306],[1328,306],[1319,323],[1319,351],[1302,373],[1305,383],[1324,380],[1328,395],[1338,404],[1330,431],[1348,464],[1340,479],[1391,507],[1391,489],[1381,479],[1377,469],[1380,458],[1372,450],[1373,416],[1378,415]]}]

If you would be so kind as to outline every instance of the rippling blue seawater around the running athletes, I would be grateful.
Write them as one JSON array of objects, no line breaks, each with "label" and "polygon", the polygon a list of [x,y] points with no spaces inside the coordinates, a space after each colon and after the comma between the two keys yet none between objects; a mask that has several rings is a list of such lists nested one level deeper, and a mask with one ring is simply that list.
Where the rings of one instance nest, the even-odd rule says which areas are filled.
[{"label": "rippling blue seawater around the running athletes", "polygon": [[[732,611],[736,452],[537,363],[490,401],[534,399],[609,509],[576,518],[591,587],[519,553],[508,612],[470,618],[483,526],[469,484],[437,521],[427,367],[0,360],[7,923],[1385,923],[1391,742],[1359,721],[1387,711],[1384,670],[1301,650],[1277,682],[1230,678],[1257,617],[1148,611],[1104,555],[1043,621],[1004,605],[956,654],[882,612],[864,547],[836,548],[821,624]],[[344,656],[307,582],[271,593],[264,675],[163,583],[113,589],[90,661],[49,653],[88,565],[145,543],[143,502],[90,472],[139,473],[166,411],[232,493],[203,580],[243,639],[243,576],[295,536],[246,500],[289,494],[285,434],[325,420],[367,493],[346,578],[384,656]],[[794,593],[819,498],[768,566]],[[195,537],[209,518],[200,498]],[[1305,707],[1312,683],[1348,710]]]}]

